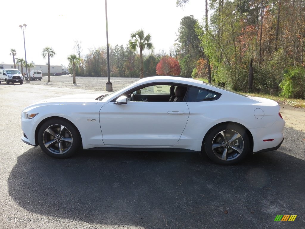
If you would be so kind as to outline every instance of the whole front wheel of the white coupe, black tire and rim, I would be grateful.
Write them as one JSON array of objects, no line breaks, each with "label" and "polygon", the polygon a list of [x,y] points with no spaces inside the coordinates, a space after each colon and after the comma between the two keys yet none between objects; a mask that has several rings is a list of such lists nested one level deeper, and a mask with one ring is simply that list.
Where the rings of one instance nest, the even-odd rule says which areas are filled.
[{"label": "whole front wheel of the white coupe, black tire and rim", "polygon": [[41,125],[38,144],[51,157],[68,158],[80,149],[81,136],[70,122],[54,118]]}]

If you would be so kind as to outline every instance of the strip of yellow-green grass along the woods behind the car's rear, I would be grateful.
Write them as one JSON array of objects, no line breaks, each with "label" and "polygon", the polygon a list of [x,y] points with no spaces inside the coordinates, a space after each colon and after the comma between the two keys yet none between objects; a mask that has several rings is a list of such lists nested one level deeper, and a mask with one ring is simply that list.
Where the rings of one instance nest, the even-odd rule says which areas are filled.
[{"label": "strip of yellow-green grass along the woods behind the car's rear", "polygon": [[[201,80],[203,82],[208,82],[208,80],[205,78],[196,78],[196,79]],[[244,94],[244,95],[248,95],[248,96],[267,98],[267,99],[274,100],[280,104],[285,104],[285,105],[292,106],[292,107],[301,107],[301,108],[305,109],[305,100],[302,100],[302,99],[289,99],[289,98],[285,98],[282,96],[271,96],[271,95],[261,94],[261,93],[242,93],[242,92],[240,92],[240,93]]]}]

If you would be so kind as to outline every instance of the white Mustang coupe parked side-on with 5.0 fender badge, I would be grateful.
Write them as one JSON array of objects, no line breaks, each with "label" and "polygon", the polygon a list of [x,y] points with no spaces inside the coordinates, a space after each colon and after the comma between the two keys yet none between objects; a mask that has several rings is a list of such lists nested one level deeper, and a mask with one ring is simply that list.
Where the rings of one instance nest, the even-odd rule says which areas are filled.
[{"label": "white Mustang coupe parked side-on with 5.0 fender badge", "polygon": [[284,140],[279,105],[194,79],[149,77],[109,95],[53,98],[22,111],[22,141],[49,156],[83,149],[205,152],[218,164]]}]

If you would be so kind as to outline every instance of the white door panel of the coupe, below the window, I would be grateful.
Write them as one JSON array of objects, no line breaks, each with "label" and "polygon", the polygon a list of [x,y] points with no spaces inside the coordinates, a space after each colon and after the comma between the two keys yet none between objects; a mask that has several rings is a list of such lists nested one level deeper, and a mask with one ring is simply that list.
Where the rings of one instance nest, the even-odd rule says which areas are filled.
[{"label": "white door panel of the coupe, below the window", "polygon": [[100,111],[102,139],[112,146],[173,146],[188,116],[185,102],[109,102]]}]

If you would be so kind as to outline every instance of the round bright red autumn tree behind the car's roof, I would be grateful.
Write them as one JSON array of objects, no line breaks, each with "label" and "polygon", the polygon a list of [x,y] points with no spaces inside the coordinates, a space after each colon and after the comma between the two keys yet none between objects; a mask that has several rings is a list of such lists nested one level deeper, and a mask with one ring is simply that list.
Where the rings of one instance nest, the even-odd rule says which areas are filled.
[{"label": "round bright red autumn tree behind the car's roof", "polygon": [[179,62],[170,56],[163,56],[156,67],[156,73],[158,75],[178,76],[180,72]]}]

